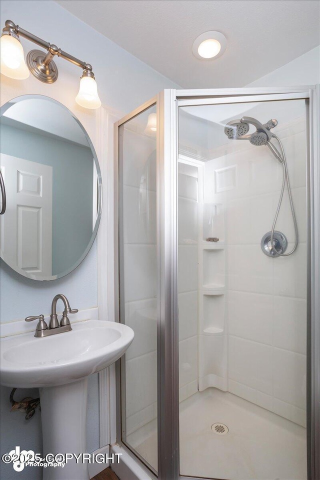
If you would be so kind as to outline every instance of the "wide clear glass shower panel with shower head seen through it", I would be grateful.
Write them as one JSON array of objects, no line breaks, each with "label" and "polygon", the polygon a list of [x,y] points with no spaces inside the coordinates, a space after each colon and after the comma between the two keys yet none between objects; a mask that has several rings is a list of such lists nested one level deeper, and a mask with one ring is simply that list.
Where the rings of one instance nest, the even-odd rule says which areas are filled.
[{"label": "wide clear glass shower panel with shower head seen through it", "polygon": [[179,108],[181,475],[307,478],[305,114]]}]

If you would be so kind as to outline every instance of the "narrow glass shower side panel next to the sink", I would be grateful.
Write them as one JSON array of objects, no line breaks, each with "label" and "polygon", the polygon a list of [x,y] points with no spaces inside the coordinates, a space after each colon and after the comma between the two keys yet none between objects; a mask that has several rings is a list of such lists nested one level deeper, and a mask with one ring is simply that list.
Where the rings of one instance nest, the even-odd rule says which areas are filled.
[{"label": "narrow glass shower side panel next to the sink", "polygon": [[120,321],[134,331],[121,358],[121,441],[157,470],[156,107],[119,129]]}]

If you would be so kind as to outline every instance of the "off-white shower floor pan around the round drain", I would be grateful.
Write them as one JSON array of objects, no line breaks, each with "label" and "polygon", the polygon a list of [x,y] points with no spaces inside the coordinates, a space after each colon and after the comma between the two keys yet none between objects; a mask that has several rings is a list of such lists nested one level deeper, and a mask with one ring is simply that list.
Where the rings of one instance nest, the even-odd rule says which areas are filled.
[{"label": "off-white shower floor pan around the round drain", "polygon": [[[214,433],[214,423],[228,432]],[[128,441],[156,468],[156,432],[146,426]],[[207,388],[180,403],[180,471],[232,480],[304,480],[306,429],[232,393]]]}]

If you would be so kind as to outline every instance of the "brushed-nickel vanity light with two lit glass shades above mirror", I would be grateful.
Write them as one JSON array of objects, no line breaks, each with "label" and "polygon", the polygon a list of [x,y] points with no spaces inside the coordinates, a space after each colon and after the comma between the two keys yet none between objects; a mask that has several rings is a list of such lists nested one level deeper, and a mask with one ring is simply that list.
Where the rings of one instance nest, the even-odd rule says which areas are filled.
[{"label": "brushed-nickel vanity light with two lit glass shades above mirror", "polygon": [[[47,53],[41,50],[30,50],[26,56],[25,64],[19,36],[45,48]],[[58,48],[56,45],[48,43],[32,33],[23,30],[23,28],[15,25],[13,21],[5,21],[5,27],[1,34],[0,68],[3,75],[21,80],[29,76],[30,70],[32,75],[38,80],[44,83],[53,83],[58,77],[58,69],[53,61],[55,55],[83,69],[80,78],[80,88],[75,97],[75,101],[85,108],[98,108],[101,105],[101,101],[97,93],[92,66],[89,63],[85,63],[61,50],[61,48]]]}]

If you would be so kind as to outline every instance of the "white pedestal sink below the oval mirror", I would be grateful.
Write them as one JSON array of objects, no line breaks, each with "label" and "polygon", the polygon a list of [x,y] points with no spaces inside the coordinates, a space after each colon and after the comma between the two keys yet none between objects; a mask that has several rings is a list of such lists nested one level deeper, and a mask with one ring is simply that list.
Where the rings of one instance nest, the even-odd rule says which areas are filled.
[{"label": "white pedestal sink below the oval mirror", "polygon": [[[1,384],[39,388],[43,458],[85,452],[87,377],[120,358],[133,336],[121,323],[86,320],[44,338],[30,332],[1,339]],[[43,468],[43,480],[88,478],[87,463],[74,458]]]}]

